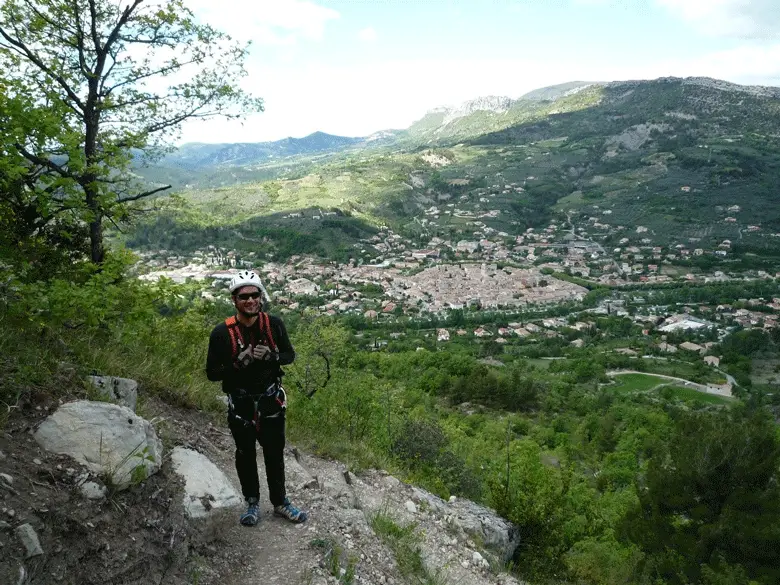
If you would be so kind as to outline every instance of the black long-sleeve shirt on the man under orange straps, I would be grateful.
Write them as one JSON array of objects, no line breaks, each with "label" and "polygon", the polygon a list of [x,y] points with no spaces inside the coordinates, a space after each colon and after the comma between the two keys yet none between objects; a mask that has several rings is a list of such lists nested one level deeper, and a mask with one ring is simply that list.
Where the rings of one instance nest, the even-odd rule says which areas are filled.
[{"label": "black long-sleeve shirt on the man under orange straps", "polygon": [[[255,360],[243,368],[235,366],[233,345],[230,340],[230,332],[224,322],[220,323],[211,332],[209,337],[209,352],[206,358],[206,375],[212,382],[222,381],[222,391],[231,394],[238,389],[244,389],[249,394],[265,392],[281,374],[281,368],[291,364],[295,360],[295,350],[287,336],[287,329],[279,317],[269,315],[271,335],[278,350],[279,359]],[[260,331],[260,320],[256,320],[252,327],[245,327],[238,323],[241,337],[245,343],[250,340],[269,345],[263,339]],[[253,343],[253,345],[255,344]]]}]

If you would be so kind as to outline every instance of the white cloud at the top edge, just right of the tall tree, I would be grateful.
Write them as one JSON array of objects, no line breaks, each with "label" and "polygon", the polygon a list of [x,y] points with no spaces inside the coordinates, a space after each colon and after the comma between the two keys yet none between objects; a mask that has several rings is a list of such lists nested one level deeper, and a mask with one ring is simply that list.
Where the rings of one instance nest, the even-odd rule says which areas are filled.
[{"label": "white cloud at the top edge, just right of the tall tree", "polygon": [[188,0],[187,6],[203,22],[234,38],[267,45],[318,41],[327,23],[340,16],[308,0]]}]

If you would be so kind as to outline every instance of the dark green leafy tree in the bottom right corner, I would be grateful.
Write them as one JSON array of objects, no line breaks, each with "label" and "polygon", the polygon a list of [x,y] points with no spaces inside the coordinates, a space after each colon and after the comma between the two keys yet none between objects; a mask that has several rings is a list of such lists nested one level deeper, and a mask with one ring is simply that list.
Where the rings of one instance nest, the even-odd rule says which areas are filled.
[{"label": "dark green leafy tree in the bottom right corner", "polygon": [[779,467],[780,440],[766,411],[681,414],[626,518],[629,539],[647,554],[649,576],[715,583],[722,567],[740,573],[741,566],[759,583],[776,583]]}]

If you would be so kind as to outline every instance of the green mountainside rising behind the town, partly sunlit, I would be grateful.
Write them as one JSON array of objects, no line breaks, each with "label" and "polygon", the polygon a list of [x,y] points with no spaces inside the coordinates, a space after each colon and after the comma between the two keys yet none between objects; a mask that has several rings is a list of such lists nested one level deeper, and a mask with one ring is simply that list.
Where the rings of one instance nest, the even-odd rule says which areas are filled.
[{"label": "green mountainside rising behind the town, partly sunlit", "polygon": [[[295,227],[300,222],[286,218],[307,209],[350,216],[361,225],[355,234],[386,224],[420,245],[434,236],[468,239],[477,220],[514,237],[555,219],[605,246],[626,237],[703,248],[729,240],[774,262],[779,91],[708,79],[566,85],[503,113],[446,123],[446,112],[431,114],[395,148],[301,157],[295,166],[214,167],[219,172],[182,192],[184,207],[200,226],[247,238],[270,228],[322,231],[321,223]],[[239,184],[204,188],[227,175]],[[191,231],[181,224],[172,232],[161,218],[131,244],[161,245],[154,221],[169,235]]]}]

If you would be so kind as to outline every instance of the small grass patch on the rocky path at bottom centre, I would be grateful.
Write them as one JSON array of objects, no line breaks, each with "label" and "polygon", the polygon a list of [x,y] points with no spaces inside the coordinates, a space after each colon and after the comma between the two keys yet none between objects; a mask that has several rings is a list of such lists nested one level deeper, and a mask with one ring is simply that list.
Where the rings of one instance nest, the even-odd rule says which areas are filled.
[{"label": "small grass patch on the rocky path at bottom centre", "polygon": [[393,551],[401,574],[415,585],[444,585],[439,574],[431,573],[423,563],[420,535],[416,524],[401,526],[385,511],[374,514],[370,520],[374,533]]}]

